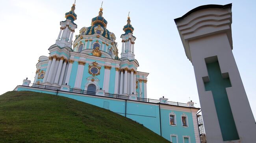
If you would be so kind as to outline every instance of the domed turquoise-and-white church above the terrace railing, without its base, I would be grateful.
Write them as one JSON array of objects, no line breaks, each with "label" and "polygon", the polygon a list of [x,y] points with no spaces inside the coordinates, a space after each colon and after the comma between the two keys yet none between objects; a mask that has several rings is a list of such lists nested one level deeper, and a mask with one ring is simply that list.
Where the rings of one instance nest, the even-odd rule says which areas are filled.
[{"label": "domed turquoise-and-white church above the terrace railing, without its base", "polygon": [[[116,36],[107,29],[103,8],[92,18],[90,27],[83,27],[79,35],[73,34],[77,25],[75,4],[65,13],[65,21],[60,22],[56,43],[48,49],[50,56],[41,56],[37,63],[34,83],[61,87],[69,85],[73,90],[96,92],[103,90],[109,94],[147,98],[147,72],[137,71],[133,36],[134,27],[128,16],[124,25],[121,58],[118,56]],[[73,48],[72,48],[73,47]]]}]

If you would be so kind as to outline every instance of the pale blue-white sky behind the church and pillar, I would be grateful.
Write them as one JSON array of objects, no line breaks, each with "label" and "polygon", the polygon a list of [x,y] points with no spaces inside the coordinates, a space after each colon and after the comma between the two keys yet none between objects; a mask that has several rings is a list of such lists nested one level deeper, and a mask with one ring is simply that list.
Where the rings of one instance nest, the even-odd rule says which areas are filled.
[{"label": "pale blue-white sky behind the church and pillar", "polygon": [[[98,15],[101,0],[76,0],[75,23],[79,33]],[[0,94],[22,85],[25,78],[33,82],[39,56],[49,56],[48,48],[59,34],[59,22],[65,20],[72,0],[1,0],[1,70]],[[105,0],[103,16],[107,29],[117,37],[121,51],[122,27],[130,11],[136,37],[134,52],[137,71],[148,72],[147,95],[162,96],[168,101],[200,107],[193,65],[187,59],[174,19],[206,4],[232,3],[233,54],[250,107],[256,117],[256,1],[254,0]],[[74,39],[73,39],[74,41]],[[119,53],[120,54],[120,53]],[[119,55],[120,57],[120,55]],[[239,105],[240,106],[240,105]]]}]

